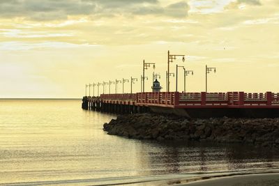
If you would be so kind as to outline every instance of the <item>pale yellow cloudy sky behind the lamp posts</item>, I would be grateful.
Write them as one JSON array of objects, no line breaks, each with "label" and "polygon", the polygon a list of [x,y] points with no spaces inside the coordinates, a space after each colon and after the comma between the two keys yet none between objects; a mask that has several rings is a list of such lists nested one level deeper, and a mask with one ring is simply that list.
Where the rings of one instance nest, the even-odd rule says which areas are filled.
[{"label": "pale yellow cloudy sky behind the lamp posts", "polygon": [[186,55],[170,72],[194,70],[188,92],[205,91],[205,65],[209,92],[279,92],[278,33],[278,0],[1,0],[0,98],[82,98],[131,77],[140,92],[143,60],[156,63],[145,91],[153,72],[165,91],[168,50]]}]

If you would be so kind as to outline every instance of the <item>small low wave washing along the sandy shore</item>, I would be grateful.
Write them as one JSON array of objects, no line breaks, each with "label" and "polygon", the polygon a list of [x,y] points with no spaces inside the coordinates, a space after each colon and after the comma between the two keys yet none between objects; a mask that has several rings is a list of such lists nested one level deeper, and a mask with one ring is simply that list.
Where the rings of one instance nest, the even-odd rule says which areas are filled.
[{"label": "small low wave washing along the sandy shore", "polygon": [[[252,174],[263,173],[279,173],[279,169],[257,169],[243,171],[210,171],[210,172],[193,172],[181,174],[168,174],[160,176],[127,176],[112,178],[93,178],[93,179],[77,179],[77,180],[49,180],[35,182],[18,182],[18,183],[1,183],[5,186],[37,186],[37,185],[137,185],[141,183],[150,183],[151,185],[160,185],[159,183],[190,183],[199,180],[209,180],[212,178],[225,178],[230,176],[246,176]],[[179,182],[177,182],[179,180]]]}]

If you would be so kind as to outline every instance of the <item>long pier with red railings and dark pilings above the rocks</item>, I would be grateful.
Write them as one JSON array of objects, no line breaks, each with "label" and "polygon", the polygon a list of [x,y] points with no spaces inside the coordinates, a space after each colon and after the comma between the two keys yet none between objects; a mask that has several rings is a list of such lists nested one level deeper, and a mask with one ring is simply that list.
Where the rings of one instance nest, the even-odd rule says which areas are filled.
[{"label": "long pier with red railings and dark pilings above the rocks", "polygon": [[278,117],[279,93],[148,92],[84,96],[82,108],[116,114],[153,111],[187,117]]}]

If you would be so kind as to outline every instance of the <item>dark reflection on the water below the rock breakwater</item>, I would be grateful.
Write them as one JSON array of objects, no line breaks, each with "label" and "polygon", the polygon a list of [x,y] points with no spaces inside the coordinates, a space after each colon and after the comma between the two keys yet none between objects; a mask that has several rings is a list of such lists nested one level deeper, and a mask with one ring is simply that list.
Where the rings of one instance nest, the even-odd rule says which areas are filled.
[{"label": "dark reflection on the water below the rock breakwater", "polygon": [[238,144],[142,141],[141,162],[153,174],[278,168],[279,153]]}]

